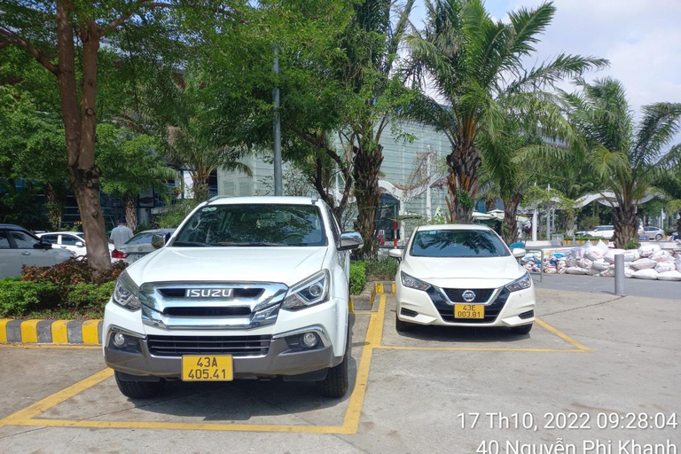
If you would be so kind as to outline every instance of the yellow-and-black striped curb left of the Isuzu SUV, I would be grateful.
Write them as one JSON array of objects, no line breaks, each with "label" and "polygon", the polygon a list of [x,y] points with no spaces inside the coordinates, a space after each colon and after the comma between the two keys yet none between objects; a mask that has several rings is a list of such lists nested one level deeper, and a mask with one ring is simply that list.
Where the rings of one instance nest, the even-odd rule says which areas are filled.
[{"label": "yellow-and-black striped curb left of the Isuzu SUV", "polygon": [[0,318],[0,343],[98,345],[102,320]]}]

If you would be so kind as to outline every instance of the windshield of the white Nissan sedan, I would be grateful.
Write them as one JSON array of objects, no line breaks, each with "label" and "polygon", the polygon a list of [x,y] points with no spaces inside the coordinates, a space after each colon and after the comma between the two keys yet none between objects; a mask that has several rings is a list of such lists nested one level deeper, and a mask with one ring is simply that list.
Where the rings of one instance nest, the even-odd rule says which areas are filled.
[{"label": "windshield of the white Nissan sedan", "polygon": [[417,231],[411,253],[415,257],[504,257],[505,244],[491,231]]}]

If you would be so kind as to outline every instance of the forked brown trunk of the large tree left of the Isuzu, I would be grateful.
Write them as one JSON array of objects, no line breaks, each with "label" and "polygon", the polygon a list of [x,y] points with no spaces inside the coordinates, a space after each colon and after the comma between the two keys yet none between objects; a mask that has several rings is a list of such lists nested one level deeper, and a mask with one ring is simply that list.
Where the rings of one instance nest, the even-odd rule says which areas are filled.
[{"label": "forked brown trunk of the large tree left of the Isuzu", "polygon": [[70,2],[57,2],[59,68],[57,83],[67,138],[68,176],[81,214],[82,231],[88,241],[88,263],[96,273],[111,270],[104,215],[99,201],[100,171],[95,165],[97,115],[97,25],[81,27],[82,94],[79,109],[75,84],[74,29],[69,16]]}]

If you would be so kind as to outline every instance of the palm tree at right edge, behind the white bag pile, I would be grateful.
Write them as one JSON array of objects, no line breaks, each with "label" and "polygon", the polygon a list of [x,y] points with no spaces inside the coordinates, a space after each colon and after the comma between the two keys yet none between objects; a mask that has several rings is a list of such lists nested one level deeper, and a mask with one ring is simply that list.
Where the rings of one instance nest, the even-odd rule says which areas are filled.
[{"label": "palm tree at right edge, behind the white bag pile", "polygon": [[667,148],[681,130],[681,104],[644,106],[637,123],[620,82],[606,78],[589,84],[579,79],[577,85],[581,93],[564,93],[568,118],[583,137],[575,143],[575,161],[591,168],[608,159],[617,161],[612,171],[597,172],[596,177],[604,192],[614,193],[614,243],[622,247],[637,237],[638,200],[681,161],[681,146]]}]

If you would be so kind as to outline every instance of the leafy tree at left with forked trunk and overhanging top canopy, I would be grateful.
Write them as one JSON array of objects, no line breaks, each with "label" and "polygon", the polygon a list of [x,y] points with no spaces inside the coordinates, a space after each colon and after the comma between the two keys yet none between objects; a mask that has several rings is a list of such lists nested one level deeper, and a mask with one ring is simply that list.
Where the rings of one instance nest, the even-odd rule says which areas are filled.
[{"label": "leafy tree at left with forked trunk and overhanging top canopy", "polygon": [[[0,49],[15,46],[26,51],[56,78],[67,145],[67,172],[89,238],[88,263],[93,270],[111,269],[104,216],[99,203],[101,171],[96,164],[98,63],[103,40],[116,45],[125,25],[127,37],[145,40],[149,49],[160,36],[168,43],[200,38],[192,30],[179,37],[176,25],[232,20],[236,2],[71,2],[69,0],[0,0]],[[204,12],[203,15],[200,12]],[[197,27],[198,28],[198,27]],[[228,27],[225,27],[228,28]],[[154,55],[154,58],[158,55]],[[155,59],[160,64],[159,59]]]}]

